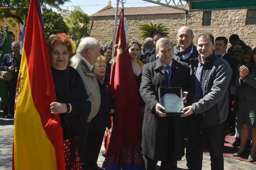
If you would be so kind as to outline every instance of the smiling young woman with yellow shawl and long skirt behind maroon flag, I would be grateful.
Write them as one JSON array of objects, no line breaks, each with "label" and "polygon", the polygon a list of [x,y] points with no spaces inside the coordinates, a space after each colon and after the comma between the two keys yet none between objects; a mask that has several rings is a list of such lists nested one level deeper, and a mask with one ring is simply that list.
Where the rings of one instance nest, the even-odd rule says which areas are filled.
[{"label": "smiling young woman with yellow shawl and long skirt behind maroon flag", "polygon": [[[138,60],[138,56],[140,55],[140,49],[141,45],[138,43],[138,41],[132,40],[127,43],[126,50],[129,53],[130,56],[130,62],[132,64],[132,70],[134,72],[134,77],[136,79],[136,84],[138,91],[140,89],[141,84],[141,78],[142,78],[142,61]],[[141,113],[141,122],[132,122],[134,123],[140,123],[142,127],[142,119],[144,115],[144,109],[145,109],[145,103],[140,96],[140,92],[138,92],[138,99],[139,99],[139,106],[140,106],[140,113]],[[131,115],[134,115],[134,113],[138,112],[132,112]],[[117,113],[118,114],[118,113]],[[115,119],[115,122],[118,122],[118,119]],[[128,123],[118,125],[113,125],[113,128],[129,128],[129,120],[127,120]],[[118,125],[118,126],[115,126]],[[138,129],[138,131],[142,131],[142,129]],[[131,131],[129,134],[124,134],[127,137],[133,137],[135,133],[138,133]],[[116,143],[118,143],[118,139],[111,139],[116,140]],[[120,141],[122,142],[122,141]],[[121,150],[119,150],[116,153],[105,155],[105,152],[103,153],[104,156],[106,156],[105,161],[103,162],[102,168],[106,170],[142,170],[143,165],[143,156],[142,156],[142,149],[141,149],[141,140],[138,140],[134,143],[130,143],[127,146],[123,147]]]}]

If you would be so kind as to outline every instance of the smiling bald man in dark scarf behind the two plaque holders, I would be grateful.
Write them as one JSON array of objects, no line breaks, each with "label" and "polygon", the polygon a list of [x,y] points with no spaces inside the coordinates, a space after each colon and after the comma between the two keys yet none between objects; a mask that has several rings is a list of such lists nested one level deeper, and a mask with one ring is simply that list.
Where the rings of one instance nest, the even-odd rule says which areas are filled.
[{"label": "smiling bald man in dark scarf behind the two plaque holders", "polygon": [[178,61],[190,64],[190,59],[199,56],[196,46],[193,45],[193,39],[194,35],[190,27],[180,27],[177,33],[177,41],[179,44],[174,47],[174,55],[177,56]]}]

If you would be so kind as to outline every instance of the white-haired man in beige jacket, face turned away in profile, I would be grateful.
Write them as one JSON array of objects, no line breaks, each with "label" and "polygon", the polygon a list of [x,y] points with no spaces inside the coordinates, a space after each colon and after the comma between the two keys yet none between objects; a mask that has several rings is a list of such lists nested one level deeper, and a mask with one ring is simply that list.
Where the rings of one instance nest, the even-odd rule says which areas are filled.
[{"label": "white-haired man in beige jacket, face turned away in profile", "polygon": [[[76,50],[76,55],[71,59],[71,66],[74,67],[82,77],[84,87],[92,104],[91,112],[86,123],[86,131],[84,132],[85,141],[88,136],[90,121],[97,115],[100,108],[100,88],[98,86],[97,78],[93,72],[93,64],[97,63],[99,56],[100,42],[92,37],[86,37],[82,39]],[[86,143],[82,144],[82,147],[79,149],[82,164],[85,162],[85,145]]]}]

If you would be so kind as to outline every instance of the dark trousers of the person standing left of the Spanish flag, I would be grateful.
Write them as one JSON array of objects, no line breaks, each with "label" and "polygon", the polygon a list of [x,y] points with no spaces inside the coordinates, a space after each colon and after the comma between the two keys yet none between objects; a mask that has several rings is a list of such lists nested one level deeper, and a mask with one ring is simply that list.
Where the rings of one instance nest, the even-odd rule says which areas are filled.
[{"label": "dark trousers of the person standing left of the Spanish flag", "polygon": [[15,91],[16,91],[17,79],[12,78],[12,80],[5,83],[8,92],[8,114],[14,115],[14,102],[15,102]]}]

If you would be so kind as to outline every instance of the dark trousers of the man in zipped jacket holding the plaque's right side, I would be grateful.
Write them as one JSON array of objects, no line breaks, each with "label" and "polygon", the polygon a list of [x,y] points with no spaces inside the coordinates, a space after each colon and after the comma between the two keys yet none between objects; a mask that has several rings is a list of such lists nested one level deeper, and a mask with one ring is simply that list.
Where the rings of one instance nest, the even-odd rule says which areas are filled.
[{"label": "dark trousers of the man in zipped jacket holding the plaque's right side", "polygon": [[186,160],[189,170],[202,170],[204,139],[210,152],[211,169],[224,170],[222,150],[222,131],[224,123],[211,127],[200,127],[200,122],[193,119],[188,129]]}]

